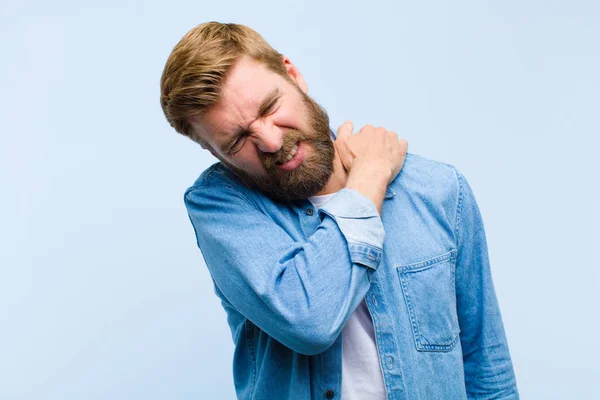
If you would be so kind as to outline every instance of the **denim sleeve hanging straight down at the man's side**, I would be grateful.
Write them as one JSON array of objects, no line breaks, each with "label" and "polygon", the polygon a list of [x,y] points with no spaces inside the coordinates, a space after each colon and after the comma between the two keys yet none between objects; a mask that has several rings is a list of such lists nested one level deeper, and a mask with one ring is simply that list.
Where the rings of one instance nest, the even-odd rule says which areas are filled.
[{"label": "denim sleeve hanging straight down at the man's side", "polygon": [[518,399],[496,299],[483,221],[467,180],[457,172],[457,312],[469,399]]}]

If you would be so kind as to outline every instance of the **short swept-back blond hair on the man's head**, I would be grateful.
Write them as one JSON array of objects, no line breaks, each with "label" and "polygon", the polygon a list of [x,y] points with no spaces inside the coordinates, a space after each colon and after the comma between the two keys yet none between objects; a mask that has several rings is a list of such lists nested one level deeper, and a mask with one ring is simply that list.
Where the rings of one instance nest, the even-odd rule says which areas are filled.
[{"label": "short swept-back blond hair on the man's head", "polygon": [[244,25],[207,22],[190,30],[177,43],[160,79],[160,105],[177,132],[206,145],[189,119],[201,116],[219,100],[227,72],[242,56],[260,61],[289,78],[283,56]]}]

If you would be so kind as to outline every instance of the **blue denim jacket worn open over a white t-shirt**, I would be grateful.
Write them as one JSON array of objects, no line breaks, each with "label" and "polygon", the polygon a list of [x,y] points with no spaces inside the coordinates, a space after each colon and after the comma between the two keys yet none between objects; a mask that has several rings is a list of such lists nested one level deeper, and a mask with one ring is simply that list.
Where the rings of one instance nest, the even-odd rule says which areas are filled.
[{"label": "blue denim jacket worn open over a white t-shirt", "polygon": [[341,332],[366,300],[388,399],[517,399],[483,223],[465,178],[409,154],[374,204],[342,189],[315,212],[222,164],[185,193],[227,312],[238,398],[339,399]]}]

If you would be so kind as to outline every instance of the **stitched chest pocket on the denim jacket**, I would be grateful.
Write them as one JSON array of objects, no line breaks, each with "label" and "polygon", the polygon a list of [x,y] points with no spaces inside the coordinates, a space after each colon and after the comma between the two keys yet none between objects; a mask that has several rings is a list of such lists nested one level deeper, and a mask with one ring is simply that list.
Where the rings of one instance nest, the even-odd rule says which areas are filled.
[{"label": "stitched chest pocket on the denim jacket", "polygon": [[459,338],[454,285],[456,250],[397,268],[419,351],[451,351]]}]

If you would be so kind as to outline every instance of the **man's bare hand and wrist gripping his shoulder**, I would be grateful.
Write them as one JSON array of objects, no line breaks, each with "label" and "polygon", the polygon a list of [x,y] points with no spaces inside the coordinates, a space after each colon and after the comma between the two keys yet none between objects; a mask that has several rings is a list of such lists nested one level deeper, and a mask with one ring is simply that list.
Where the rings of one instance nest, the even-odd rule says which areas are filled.
[{"label": "man's bare hand and wrist gripping his shoulder", "polygon": [[381,214],[385,190],[402,169],[408,143],[382,127],[365,125],[355,135],[352,130],[352,122],[343,123],[334,143],[348,171],[346,187],[369,197]]}]

